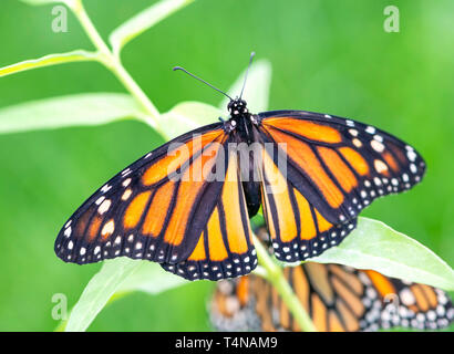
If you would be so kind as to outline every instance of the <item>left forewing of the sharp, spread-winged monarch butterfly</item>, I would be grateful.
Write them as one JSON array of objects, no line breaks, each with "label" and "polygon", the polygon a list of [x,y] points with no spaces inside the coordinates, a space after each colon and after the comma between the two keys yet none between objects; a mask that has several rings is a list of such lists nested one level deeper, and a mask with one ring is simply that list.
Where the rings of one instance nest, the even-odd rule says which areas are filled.
[{"label": "left forewing of the sharp, spread-winged monarch butterfly", "polygon": [[206,126],[132,164],[74,212],[56,238],[56,254],[76,263],[185,260],[223,187],[200,171],[211,169],[227,139],[219,124]]}]

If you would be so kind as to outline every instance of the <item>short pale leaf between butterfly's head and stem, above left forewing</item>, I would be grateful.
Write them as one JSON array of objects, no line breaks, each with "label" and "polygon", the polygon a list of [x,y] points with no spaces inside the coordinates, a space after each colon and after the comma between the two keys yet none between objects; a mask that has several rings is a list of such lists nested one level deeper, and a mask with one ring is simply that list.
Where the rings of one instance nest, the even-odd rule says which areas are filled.
[{"label": "short pale leaf between butterfly's head and stem, above left forewing", "polygon": [[169,138],[174,138],[202,125],[215,123],[221,115],[220,110],[209,104],[183,102],[161,115],[159,126]]}]

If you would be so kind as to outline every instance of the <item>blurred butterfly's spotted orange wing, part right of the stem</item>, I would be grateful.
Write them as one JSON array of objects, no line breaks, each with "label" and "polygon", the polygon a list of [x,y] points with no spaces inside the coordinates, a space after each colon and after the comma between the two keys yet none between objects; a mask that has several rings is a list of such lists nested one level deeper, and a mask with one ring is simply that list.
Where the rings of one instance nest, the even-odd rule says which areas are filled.
[{"label": "blurred butterfly's spotted orange wing, part right of the stem", "polygon": [[437,330],[453,321],[447,294],[429,285],[372,270],[311,262],[287,274],[319,331]]}]

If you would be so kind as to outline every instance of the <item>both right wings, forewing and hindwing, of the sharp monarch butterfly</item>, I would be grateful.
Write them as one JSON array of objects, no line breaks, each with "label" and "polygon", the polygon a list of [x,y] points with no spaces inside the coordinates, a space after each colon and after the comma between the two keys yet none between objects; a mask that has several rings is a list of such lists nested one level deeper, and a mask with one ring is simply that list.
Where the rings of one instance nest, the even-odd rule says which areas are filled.
[{"label": "both right wings, forewing and hindwing, of the sharp monarch butterfly", "polygon": [[303,111],[256,118],[265,146],[262,205],[282,261],[338,244],[373,199],[410,189],[425,171],[414,148],[362,123]]}]

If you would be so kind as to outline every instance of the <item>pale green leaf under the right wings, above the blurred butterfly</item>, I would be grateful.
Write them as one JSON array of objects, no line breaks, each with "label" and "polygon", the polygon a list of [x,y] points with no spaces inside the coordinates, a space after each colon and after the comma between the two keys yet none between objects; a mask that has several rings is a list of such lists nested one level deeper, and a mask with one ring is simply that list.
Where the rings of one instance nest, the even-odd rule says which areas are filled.
[{"label": "pale green leaf under the right wings, above the blurred butterfly", "polygon": [[359,218],[338,247],[309,261],[372,269],[384,275],[454,290],[454,271],[429,248],[381,221]]}]

